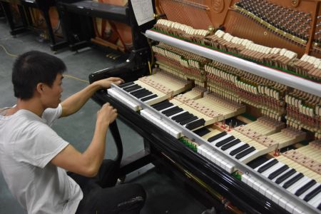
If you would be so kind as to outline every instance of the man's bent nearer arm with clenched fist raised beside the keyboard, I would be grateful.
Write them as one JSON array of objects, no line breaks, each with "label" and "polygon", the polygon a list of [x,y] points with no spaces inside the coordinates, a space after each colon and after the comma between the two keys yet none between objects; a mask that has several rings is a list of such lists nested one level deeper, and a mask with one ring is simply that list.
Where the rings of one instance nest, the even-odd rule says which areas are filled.
[{"label": "man's bent nearer arm with clenched fist raised beside the keyboard", "polygon": [[51,160],[51,163],[79,175],[86,177],[95,176],[98,173],[103,157],[105,156],[108,126],[116,117],[116,109],[110,106],[109,103],[103,105],[101,110],[97,113],[93,139],[86,151],[80,153],[69,144]]}]

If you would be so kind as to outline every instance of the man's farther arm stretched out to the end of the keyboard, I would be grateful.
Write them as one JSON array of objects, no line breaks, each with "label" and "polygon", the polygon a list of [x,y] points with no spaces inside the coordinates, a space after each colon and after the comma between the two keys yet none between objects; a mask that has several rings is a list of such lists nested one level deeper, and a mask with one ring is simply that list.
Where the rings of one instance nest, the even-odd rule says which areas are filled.
[{"label": "man's farther arm stretched out to the end of the keyboard", "polygon": [[88,99],[93,96],[93,93],[102,88],[110,88],[111,83],[119,85],[120,83],[123,83],[123,80],[118,77],[102,79],[100,81],[91,83],[91,85],[83,88],[83,90],[78,91],[72,96],[66,98],[66,100],[61,103],[61,117],[66,117],[76,113],[88,101]]}]

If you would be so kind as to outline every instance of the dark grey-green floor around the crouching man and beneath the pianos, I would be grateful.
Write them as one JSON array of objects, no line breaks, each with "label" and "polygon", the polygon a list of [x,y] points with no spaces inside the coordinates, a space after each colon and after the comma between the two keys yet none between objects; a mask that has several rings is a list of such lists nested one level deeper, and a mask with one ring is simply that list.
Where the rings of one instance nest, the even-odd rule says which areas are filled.
[{"label": "dark grey-green floor around the crouching man and beneath the pianos", "polygon": [[[38,39],[32,32],[13,37],[9,34],[6,19],[0,18],[0,108],[13,106],[16,103],[13,86],[11,84],[11,68],[16,56],[26,51],[38,50],[53,54],[49,43]],[[58,51],[68,68],[66,78],[63,79],[63,98],[71,96],[88,83],[88,74],[117,63],[96,49],[83,49],[78,53],[68,49]],[[75,78],[76,77],[76,78]],[[85,151],[91,142],[95,126],[96,112],[100,106],[88,101],[78,113],[68,118],[61,118],[54,124],[54,130],[79,151]],[[138,136],[130,127],[118,121],[118,128],[123,140],[123,158],[143,149],[143,138]],[[106,158],[116,156],[116,147],[111,133],[108,133],[106,143]],[[156,172],[151,168],[129,182],[140,183],[146,190],[147,200],[141,213],[195,213],[200,214],[206,209],[199,200],[193,197],[183,183],[169,178],[165,173]],[[0,213],[23,214],[26,211],[12,197],[0,171]]]}]

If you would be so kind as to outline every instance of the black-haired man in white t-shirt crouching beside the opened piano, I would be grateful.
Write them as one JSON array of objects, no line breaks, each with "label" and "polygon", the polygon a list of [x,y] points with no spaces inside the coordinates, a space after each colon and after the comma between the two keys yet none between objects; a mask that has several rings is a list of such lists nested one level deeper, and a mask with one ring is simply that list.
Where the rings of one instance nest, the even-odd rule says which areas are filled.
[{"label": "black-haired man in white t-shirt crouching beside the opened piano", "polygon": [[96,81],[61,103],[65,70],[61,59],[39,51],[22,54],[14,63],[17,103],[0,109],[0,169],[11,193],[28,213],[139,213],[143,188],[110,188],[118,165],[103,161],[115,108],[106,103],[97,112],[93,139],[83,153],[50,128],[57,118],[76,113],[97,90],[123,80]]}]

